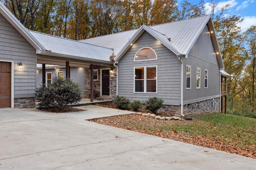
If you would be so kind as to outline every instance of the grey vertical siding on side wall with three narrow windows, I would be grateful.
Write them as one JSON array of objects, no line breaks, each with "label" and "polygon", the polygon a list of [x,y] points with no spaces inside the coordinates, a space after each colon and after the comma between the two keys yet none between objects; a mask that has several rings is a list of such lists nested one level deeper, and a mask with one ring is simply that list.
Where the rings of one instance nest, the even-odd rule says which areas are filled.
[{"label": "grey vertical siding on side wall with three narrow windows", "polygon": [[[184,63],[183,103],[190,104],[220,96],[220,68],[208,25],[193,45]],[[186,89],[186,65],[191,66],[191,89]],[[200,88],[196,88],[196,68],[200,68]],[[204,88],[204,70],[208,70],[208,88]]]}]

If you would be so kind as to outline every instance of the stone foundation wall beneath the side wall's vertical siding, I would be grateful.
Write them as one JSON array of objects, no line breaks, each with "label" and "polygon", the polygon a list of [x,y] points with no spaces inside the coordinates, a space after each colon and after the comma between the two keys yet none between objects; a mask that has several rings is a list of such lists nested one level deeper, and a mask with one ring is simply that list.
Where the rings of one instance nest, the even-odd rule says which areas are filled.
[{"label": "stone foundation wall beneath the side wall's vertical siding", "polygon": [[186,104],[183,106],[184,115],[200,114],[200,113],[214,113],[220,111],[220,98],[214,98],[213,107],[212,99]]}]

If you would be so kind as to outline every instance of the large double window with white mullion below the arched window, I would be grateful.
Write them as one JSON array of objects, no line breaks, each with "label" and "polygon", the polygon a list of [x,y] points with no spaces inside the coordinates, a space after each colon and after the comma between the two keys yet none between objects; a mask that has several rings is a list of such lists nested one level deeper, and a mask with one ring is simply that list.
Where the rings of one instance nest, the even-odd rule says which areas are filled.
[{"label": "large double window with white mullion below the arched window", "polygon": [[156,66],[134,68],[134,92],[156,93]]}]

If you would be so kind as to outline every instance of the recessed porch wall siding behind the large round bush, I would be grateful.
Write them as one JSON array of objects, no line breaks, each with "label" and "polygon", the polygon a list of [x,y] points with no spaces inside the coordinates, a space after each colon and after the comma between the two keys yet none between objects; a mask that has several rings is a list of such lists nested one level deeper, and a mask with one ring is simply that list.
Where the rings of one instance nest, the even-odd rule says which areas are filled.
[{"label": "recessed porch wall siding behind the large round bush", "polygon": [[[58,72],[63,72],[63,77],[66,76],[66,68],[56,68],[56,69],[47,69],[46,73],[51,72],[52,78],[58,76]],[[46,76],[46,75],[45,75]],[[47,77],[46,77],[47,78]],[[84,98],[84,68],[82,67],[71,67],[70,68],[70,78],[73,82],[77,82],[80,84],[82,89],[82,98]],[[40,87],[40,84],[42,83],[42,70],[39,69],[36,72],[36,87]]]}]

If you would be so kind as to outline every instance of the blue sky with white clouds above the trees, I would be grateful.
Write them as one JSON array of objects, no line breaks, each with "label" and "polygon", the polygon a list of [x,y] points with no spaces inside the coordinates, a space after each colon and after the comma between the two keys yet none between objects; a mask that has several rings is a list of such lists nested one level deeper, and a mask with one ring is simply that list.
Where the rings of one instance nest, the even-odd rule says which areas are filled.
[{"label": "blue sky with white clouds above the trees", "polygon": [[[188,0],[192,4],[198,4],[200,0]],[[211,0],[204,0],[206,9]],[[230,9],[224,16],[238,15],[244,19],[238,26],[241,27],[242,32],[246,31],[251,25],[256,25],[256,0],[216,0],[218,7],[221,8],[226,4],[230,4]],[[216,10],[218,13],[219,11]],[[208,11],[207,14],[210,14]]]}]

